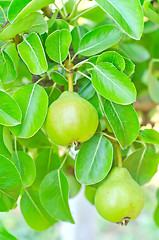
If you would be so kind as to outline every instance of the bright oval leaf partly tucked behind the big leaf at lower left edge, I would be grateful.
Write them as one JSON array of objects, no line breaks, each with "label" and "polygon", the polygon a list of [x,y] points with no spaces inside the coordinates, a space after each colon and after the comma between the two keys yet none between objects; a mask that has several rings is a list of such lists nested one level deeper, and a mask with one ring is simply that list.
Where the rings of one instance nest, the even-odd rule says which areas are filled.
[{"label": "bright oval leaf partly tucked behind the big leaf at lower left edge", "polygon": [[18,151],[13,154],[13,163],[20,173],[23,186],[30,186],[36,175],[35,163],[32,158],[27,153]]}]

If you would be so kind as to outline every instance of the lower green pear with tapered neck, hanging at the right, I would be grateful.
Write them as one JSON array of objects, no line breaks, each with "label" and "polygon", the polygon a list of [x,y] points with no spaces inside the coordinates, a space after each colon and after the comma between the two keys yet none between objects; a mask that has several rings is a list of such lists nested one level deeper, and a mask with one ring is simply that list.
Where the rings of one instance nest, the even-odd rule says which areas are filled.
[{"label": "lower green pear with tapered neck, hanging at the right", "polygon": [[127,225],[141,213],[145,203],[143,189],[126,168],[112,169],[95,195],[98,213],[106,220]]}]

